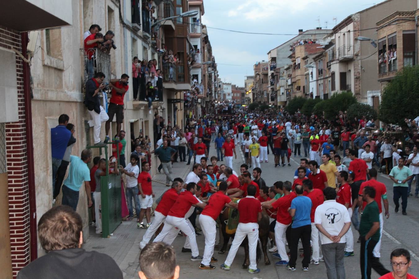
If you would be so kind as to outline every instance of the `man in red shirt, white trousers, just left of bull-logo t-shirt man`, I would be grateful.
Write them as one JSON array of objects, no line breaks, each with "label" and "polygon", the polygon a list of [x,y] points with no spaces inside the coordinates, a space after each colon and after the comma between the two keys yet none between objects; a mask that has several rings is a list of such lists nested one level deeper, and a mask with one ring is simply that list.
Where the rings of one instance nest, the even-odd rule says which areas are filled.
[{"label": "man in red shirt, white trousers, just left of bull-logo t-shirt man", "polygon": [[314,223],[314,213],[316,212],[316,208],[323,204],[324,196],[323,191],[320,189],[313,188],[313,182],[310,179],[306,179],[303,182],[303,189],[306,197],[309,197],[312,203],[311,212],[310,212],[310,219],[311,219],[311,247],[313,248],[313,255],[312,260],[310,261],[311,264],[319,264],[318,261],[320,259],[320,247],[318,245],[318,228]]}]

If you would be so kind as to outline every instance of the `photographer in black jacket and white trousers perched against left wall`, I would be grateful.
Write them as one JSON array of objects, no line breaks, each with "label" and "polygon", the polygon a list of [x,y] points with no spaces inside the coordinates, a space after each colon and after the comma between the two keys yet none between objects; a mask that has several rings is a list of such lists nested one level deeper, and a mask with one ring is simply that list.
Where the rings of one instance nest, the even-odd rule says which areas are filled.
[{"label": "photographer in black jacket and white trousers perched against left wall", "polygon": [[92,79],[88,79],[86,82],[86,94],[84,97],[84,104],[89,110],[92,120],[89,120],[90,126],[94,126],[94,141],[95,144],[103,144],[100,140],[101,125],[103,122],[109,119],[106,111],[101,106],[99,92],[102,92],[106,87],[103,83],[105,74],[98,72]]}]

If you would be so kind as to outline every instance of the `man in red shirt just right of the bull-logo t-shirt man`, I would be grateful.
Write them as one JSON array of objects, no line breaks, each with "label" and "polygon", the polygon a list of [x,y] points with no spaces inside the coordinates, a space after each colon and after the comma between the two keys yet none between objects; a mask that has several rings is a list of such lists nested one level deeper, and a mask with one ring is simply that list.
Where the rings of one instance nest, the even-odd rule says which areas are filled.
[{"label": "man in red shirt just right of the bull-logo t-shirt man", "polygon": [[[338,175],[339,190],[336,193],[336,202],[344,205],[349,212],[349,217],[352,218],[352,190],[351,186],[348,184],[348,173],[347,171],[340,171]],[[345,257],[354,256],[354,235],[352,234],[352,229],[349,227],[347,233],[345,233],[346,238],[346,248],[345,248]]]}]

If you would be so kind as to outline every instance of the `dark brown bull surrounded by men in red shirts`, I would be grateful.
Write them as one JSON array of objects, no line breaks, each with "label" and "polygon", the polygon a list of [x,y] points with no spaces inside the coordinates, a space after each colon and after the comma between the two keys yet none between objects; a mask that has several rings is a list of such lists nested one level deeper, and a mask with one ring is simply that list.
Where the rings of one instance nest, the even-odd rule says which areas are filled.
[{"label": "dark brown bull surrounded by men in red shirts", "polygon": [[[225,232],[225,226],[226,226],[224,222],[225,220],[228,220],[228,209],[224,210],[224,212],[220,214],[220,241],[219,242],[221,243],[221,239],[223,239],[223,244],[220,251],[218,251],[219,254],[225,253],[225,251],[227,250],[227,244],[228,244],[228,241],[230,240],[230,237],[234,238],[234,234],[228,234]],[[268,244],[268,235],[269,235],[269,216],[266,214],[264,210],[262,211],[262,219],[258,222],[258,224],[259,224],[259,239],[262,244],[262,251],[264,253],[265,265],[269,265],[271,264],[271,261],[269,261],[268,253],[266,252],[266,248]],[[244,246],[244,262],[243,262],[242,267],[243,269],[247,269],[250,264],[249,245],[248,245],[247,236],[246,238],[244,238],[242,242],[242,246]],[[258,245],[256,246],[256,262],[259,262],[260,257],[261,257],[261,252],[260,252],[260,247],[258,243]]]}]

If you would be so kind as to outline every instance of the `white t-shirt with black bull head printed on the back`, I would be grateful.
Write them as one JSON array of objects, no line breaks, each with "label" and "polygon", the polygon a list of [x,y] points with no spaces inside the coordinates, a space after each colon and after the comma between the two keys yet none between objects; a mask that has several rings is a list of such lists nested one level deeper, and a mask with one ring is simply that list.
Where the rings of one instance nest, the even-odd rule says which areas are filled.
[{"label": "white t-shirt with black bull head printed on the back", "polygon": [[[351,223],[349,212],[344,205],[336,200],[326,200],[314,212],[314,224],[320,224],[330,235],[339,235],[345,223]],[[333,243],[330,238],[320,233],[321,244]],[[345,236],[339,243],[345,243]]]}]

